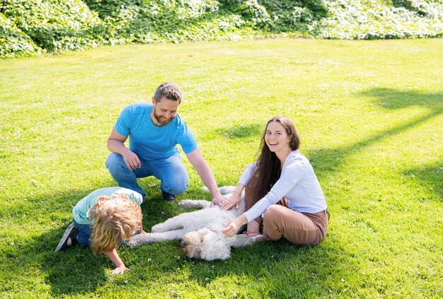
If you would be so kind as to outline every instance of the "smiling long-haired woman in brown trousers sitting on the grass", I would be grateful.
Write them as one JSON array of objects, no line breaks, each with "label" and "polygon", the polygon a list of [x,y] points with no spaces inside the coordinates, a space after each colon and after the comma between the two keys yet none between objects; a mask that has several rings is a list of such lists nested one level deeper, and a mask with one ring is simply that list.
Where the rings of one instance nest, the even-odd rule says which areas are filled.
[{"label": "smiling long-haired woman in brown trousers sitting on the grass", "polygon": [[236,206],[246,187],[247,210],[224,228],[227,237],[248,223],[246,234],[257,240],[283,237],[294,244],[323,240],[329,221],[326,200],[299,146],[299,134],[289,118],[273,117],[267,122],[257,162],[246,168],[234,194],[222,204],[222,209]]}]

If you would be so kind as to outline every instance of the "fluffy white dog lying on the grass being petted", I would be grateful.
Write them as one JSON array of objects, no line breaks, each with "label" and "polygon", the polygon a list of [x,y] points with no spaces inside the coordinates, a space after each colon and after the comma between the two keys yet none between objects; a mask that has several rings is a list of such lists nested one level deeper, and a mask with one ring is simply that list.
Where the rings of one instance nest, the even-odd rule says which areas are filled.
[{"label": "fluffy white dog lying on the grass being petted", "polygon": [[[229,197],[234,192],[234,187],[221,187],[220,193]],[[130,247],[161,242],[166,240],[178,240],[181,242],[183,252],[195,259],[229,259],[231,247],[252,245],[255,240],[247,235],[235,235],[226,238],[222,229],[236,217],[245,211],[244,192],[241,195],[239,209],[235,207],[224,211],[219,206],[211,207],[210,201],[185,199],[178,203],[179,206],[188,208],[200,208],[201,210],[182,213],[169,218],[163,223],[154,225],[152,233],[134,235],[127,245]]]}]

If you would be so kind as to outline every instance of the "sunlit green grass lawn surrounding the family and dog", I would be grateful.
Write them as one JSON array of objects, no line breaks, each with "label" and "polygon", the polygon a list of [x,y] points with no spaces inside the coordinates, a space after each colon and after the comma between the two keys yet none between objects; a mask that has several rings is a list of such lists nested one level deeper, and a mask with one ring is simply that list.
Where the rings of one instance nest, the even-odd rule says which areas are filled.
[{"label": "sunlit green grass lawn surrounding the family and dog", "polygon": [[[442,298],[443,40],[124,45],[0,61],[1,298]],[[331,213],[316,246],[186,258],[178,241],[54,254],[71,208],[115,185],[108,134],[125,105],[183,88],[217,183],[236,184],[270,117],[291,117]],[[209,199],[188,160],[179,199]],[[180,213],[141,180],[144,228]]]}]

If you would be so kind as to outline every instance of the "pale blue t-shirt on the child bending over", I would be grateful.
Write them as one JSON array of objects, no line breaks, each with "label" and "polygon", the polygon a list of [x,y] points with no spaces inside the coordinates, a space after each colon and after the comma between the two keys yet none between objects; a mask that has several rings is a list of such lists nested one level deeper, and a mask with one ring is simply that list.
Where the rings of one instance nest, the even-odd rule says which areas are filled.
[{"label": "pale blue t-shirt on the child bending over", "polygon": [[74,216],[75,221],[79,224],[88,224],[89,209],[96,204],[98,197],[103,195],[107,197],[115,197],[115,194],[126,194],[129,199],[135,201],[139,206],[143,203],[142,194],[130,189],[122,187],[105,187],[97,189],[86,195],[86,197],[81,199],[77,202],[76,206],[74,206],[74,209],[72,209],[72,215]]}]

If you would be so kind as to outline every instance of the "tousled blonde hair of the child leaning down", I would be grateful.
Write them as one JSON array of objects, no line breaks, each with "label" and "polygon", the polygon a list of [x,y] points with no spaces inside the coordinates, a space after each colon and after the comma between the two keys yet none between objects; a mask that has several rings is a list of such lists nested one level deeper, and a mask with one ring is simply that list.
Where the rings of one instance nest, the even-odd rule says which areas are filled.
[{"label": "tousled blonde hair of the child leaning down", "polygon": [[93,223],[91,250],[95,253],[110,252],[129,240],[142,225],[142,209],[125,194],[115,197],[98,197],[90,210]]}]

